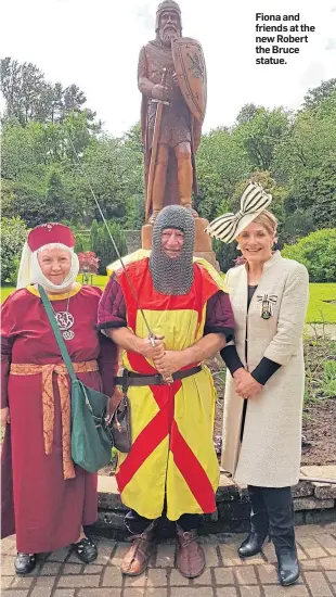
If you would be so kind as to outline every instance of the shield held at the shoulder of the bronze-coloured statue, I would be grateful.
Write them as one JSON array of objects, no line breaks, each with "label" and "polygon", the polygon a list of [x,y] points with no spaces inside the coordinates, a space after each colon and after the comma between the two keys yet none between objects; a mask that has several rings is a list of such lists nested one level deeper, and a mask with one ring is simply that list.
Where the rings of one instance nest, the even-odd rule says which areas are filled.
[{"label": "shield held at the shoulder of the bronze-coloured statue", "polygon": [[171,43],[172,59],[185,103],[203,123],[207,103],[207,73],[202,46],[191,37],[180,37]]}]

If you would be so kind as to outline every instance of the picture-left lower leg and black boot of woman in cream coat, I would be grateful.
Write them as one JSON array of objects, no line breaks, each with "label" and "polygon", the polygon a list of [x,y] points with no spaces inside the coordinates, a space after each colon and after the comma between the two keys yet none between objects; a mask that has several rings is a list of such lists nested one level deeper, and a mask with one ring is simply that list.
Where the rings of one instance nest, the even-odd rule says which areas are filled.
[{"label": "picture-left lower leg and black boot of woman in cream coat", "polygon": [[259,554],[269,531],[269,519],[262,497],[262,487],[248,485],[248,496],[250,501],[250,532],[238,548],[241,558],[249,558]]}]

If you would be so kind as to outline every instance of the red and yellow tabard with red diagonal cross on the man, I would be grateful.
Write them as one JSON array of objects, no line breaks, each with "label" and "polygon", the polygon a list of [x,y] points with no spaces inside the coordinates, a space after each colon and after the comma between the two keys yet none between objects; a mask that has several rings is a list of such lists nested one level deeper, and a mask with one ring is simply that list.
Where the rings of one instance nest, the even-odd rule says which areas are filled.
[{"label": "red and yellow tabard with red diagonal cross on the man", "polygon": [[[117,270],[128,327],[147,336],[141,307],[154,333],[165,336],[167,350],[186,348],[203,336],[207,301],[225,290],[203,259],[194,263],[192,288],[181,296],[156,292],[147,257],[128,264],[127,271],[139,297],[137,304],[125,271]],[[131,351],[124,352],[122,364],[131,371],[156,373],[151,360]],[[161,515],[165,497],[170,520],[214,512],[219,467],[212,443],[215,388],[208,368],[203,366],[171,385],[131,386],[128,396],[133,445],[128,455],[119,454],[116,474],[124,504],[148,519]]]}]

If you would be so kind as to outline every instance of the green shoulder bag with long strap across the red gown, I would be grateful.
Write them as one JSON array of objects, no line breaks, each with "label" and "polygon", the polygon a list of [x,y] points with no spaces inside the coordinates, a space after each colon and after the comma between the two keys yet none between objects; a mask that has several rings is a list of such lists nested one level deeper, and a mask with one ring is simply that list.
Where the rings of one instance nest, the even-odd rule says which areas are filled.
[{"label": "green shoulder bag with long strap across the red gown", "polygon": [[77,378],[50,301],[44,289],[38,289],[72,382],[72,458],[86,471],[96,472],[111,461],[113,437],[105,424],[108,397]]}]

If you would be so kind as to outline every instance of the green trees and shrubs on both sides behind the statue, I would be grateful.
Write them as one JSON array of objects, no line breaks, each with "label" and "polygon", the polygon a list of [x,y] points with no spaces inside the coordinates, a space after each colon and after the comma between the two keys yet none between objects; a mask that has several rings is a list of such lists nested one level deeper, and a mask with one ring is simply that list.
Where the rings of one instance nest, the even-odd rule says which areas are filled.
[{"label": "green trees and shrubs on both sides behind the statue", "polygon": [[[112,261],[106,255],[111,250],[104,239],[95,238],[92,245],[91,225],[94,236],[94,220],[98,227],[101,223],[89,181],[106,219],[117,226],[121,252],[126,251],[122,229],[139,230],[144,224],[140,123],[114,137],[76,84],[50,82],[37,65],[11,58],[1,60],[0,71],[5,99],[2,217],[18,216],[28,228],[41,220],[69,224],[78,251],[94,251],[103,272],[106,259]],[[313,281],[336,281],[335,228],[328,240],[322,232],[336,221],[336,78],[309,89],[297,112],[242,106],[232,127],[203,135],[196,163],[199,193],[194,203],[201,216],[210,220],[223,211],[237,209],[246,181],[259,181],[273,195],[279,247],[285,243],[284,254],[303,259]],[[309,240],[300,241],[305,237]],[[11,251],[18,254],[20,245],[13,240]],[[233,265],[234,245],[215,243],[215,250],[222,270]],[[11,263],[13,277],[15,259]]]}]

